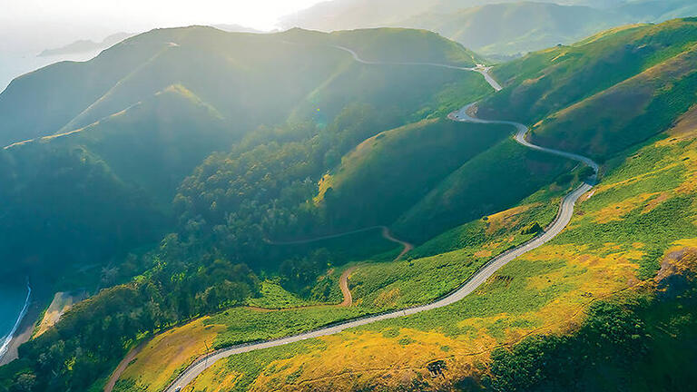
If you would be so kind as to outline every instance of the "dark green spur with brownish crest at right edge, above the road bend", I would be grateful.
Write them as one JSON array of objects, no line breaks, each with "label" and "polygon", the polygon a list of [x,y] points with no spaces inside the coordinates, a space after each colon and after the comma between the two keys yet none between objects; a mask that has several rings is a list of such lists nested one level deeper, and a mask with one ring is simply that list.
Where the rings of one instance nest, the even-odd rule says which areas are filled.
[{"label": "dark green spur with brownish crest at right edge, above the road bend", "polygon": [[697,51],[691,48],[545,118],[532,140],[598,157],[643,142],[697,102],[696,64]]}]

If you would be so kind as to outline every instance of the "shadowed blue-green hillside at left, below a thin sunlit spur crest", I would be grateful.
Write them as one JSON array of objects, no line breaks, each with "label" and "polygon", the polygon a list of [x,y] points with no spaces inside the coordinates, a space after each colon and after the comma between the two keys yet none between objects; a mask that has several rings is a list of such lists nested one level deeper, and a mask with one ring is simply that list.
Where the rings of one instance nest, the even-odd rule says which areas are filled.
[{"label": "shadowed blue-green hillside at left, below a thin sunlit spur crest", "polygon": [[84,129],[5,149],[0,242],[16,260],[6,269],[40,273],[47,263],[58,273],[159,240],[179,183],[234,136],[209,106],[172,86]]}]

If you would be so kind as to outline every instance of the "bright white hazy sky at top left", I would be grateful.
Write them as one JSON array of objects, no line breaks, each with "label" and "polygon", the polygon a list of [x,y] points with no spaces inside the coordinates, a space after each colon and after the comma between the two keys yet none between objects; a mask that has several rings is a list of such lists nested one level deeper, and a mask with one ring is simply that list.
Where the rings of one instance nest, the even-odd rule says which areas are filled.
[{"label": "bright white hazy sky at top left", "polygon": [[179,25],[239,24],[270,30],[280,16],[319,1],[0,0],[0,45],[60,44]]}]

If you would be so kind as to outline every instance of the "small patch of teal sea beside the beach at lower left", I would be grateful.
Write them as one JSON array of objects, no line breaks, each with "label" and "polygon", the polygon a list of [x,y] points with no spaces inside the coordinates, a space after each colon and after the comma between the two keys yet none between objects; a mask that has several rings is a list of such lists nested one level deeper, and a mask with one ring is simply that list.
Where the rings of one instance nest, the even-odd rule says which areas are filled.
[{"label": "small patch of teal sea beside the beach at lower left", "polygon": [[20,316],[28,309],[29,288],[22,279],[0,282],[0,357],[5,354],[10,334],[17,327]]}]

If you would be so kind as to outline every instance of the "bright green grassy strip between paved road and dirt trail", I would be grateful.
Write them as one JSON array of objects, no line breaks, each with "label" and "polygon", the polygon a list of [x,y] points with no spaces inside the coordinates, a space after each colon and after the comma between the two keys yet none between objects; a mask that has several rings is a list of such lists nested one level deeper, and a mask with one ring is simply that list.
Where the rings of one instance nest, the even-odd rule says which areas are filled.
[{"label": "bright green grassy strip between paved road and dirt trail", "polygon": [[449,230],[407,253],[407,260],[361,267],[350,279],[354,300],[371,309],[398,309],[440,298],[486,261],[535,237],[536,233],[523,229],[530,222],[543,227],[551,223],[558,202],[552,198],[523,204]]}]

